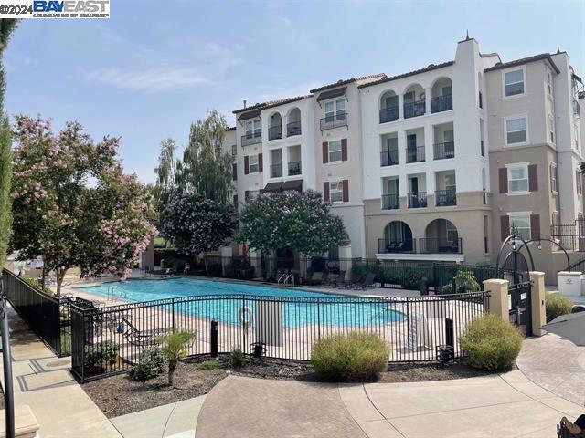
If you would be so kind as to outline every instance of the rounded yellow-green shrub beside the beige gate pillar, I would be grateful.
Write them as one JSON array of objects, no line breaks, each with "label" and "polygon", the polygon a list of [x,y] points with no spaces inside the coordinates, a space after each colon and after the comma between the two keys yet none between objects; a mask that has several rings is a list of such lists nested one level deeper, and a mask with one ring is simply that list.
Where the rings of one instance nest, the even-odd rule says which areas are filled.
[{"label": "rounded yellow-green shrub beside the beige gate pillar", "polygon": [[522,333],[493,313],[474,318],[459,339],[469,364],[480,370],[509,370],[522,348]]}]

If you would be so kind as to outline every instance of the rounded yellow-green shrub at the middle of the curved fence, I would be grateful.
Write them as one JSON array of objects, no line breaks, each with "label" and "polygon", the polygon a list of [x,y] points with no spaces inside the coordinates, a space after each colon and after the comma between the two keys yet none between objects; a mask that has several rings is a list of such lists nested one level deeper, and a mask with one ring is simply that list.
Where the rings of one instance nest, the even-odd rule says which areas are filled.
[{"label": "rounded yellow-green shrub at the middle of the curved fence", "polygon": [[388,367],[388,344],[372,333],[353,331],[315,342],[311,363],[328,380],[364,381]]}]

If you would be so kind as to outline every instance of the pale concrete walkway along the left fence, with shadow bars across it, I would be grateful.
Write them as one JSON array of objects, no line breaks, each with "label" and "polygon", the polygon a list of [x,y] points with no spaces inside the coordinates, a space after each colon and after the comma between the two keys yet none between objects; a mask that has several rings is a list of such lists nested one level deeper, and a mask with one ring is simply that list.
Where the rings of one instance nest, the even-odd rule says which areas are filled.
[{"label": "pale concrete walkway along the left fence, with shadow bars across it", "polygon": [[[120,438],[112,423],[69,373],[70,358],[58,359],[8,308],[15,406],[27,404],[43,438]],[[4,370],[0,361],[0,375]],[[4,418],[0,420],[4,422]]]}]

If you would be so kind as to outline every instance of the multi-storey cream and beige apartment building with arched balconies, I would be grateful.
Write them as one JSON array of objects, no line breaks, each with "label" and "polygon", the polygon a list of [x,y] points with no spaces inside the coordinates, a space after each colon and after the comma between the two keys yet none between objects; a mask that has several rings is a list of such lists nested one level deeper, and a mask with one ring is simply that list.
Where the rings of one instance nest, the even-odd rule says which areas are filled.
[{"label": "multi-storey cream and beige apartment building with arched balconies", "polygon": [[[584,99],[565,52],[503,62],[467,37],[440,64],[235,110],[239,204],[317,190],[353,256],[495,260],[511,226],[582,216]],[[558,265],[541,247],[538,268]]]}]

